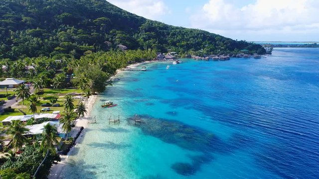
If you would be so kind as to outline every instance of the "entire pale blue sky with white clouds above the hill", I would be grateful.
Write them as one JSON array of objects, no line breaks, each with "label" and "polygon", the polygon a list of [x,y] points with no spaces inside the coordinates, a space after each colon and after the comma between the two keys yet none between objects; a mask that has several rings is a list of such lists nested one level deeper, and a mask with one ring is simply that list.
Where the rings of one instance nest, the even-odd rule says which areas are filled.
[{"label": "entire pale blue sky with white clouds above the hill", "polygon": [[107,0],[166,24],[247,41],[319,42],[319,0]]}]

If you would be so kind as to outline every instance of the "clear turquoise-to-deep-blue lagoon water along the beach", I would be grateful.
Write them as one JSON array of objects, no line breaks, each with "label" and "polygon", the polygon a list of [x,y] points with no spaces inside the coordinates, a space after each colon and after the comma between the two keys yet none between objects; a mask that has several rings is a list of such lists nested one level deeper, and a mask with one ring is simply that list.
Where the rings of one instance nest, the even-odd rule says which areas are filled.
[{"label": "clear turquoise-to-deep-blue lagoon water along the beach", "polygon": [[[319,49],[124,72],[61,178],[317,179]],[[108,123],[109,115],[121,123]],[[144,123],[134,125],[134,114]]]}]

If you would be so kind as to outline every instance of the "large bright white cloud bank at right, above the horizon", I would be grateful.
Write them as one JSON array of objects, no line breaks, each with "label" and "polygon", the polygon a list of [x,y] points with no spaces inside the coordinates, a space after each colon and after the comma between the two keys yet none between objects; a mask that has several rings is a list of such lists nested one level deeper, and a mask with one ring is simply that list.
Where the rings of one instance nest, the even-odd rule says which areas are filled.
[{"label": "large bright white cloud bank at right, above the horizon", "polygon": [[222,34],[318,34],[318,12],[319,0],[256,0],[241,7],[231,0],[209,0],[190,20],[194,28]]}]

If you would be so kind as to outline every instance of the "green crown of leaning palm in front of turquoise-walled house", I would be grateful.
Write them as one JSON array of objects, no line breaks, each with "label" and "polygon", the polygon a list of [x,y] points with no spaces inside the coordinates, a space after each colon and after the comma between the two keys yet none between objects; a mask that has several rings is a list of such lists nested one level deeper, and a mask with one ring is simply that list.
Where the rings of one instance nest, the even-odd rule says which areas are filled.
[{"label": "green crown of leaning palm in front of turquoise-walled house", "polygon": [[40,149],[43,150],[43,156],[47,151],[51,151],[53,154],[56,153],[54,144],[59,143],[56,139],[58,137],[57,133],[57,129],[53,125],[46,124],[44,126],[40,145]]}]

